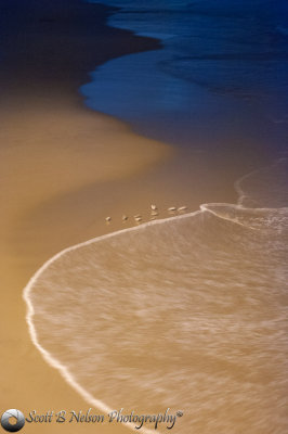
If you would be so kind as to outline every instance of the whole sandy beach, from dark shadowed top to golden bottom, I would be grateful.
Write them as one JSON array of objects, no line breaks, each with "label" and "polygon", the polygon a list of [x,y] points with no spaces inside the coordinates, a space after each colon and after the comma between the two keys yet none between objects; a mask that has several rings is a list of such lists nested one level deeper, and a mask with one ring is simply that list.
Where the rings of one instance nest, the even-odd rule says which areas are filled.
[{"label": "whole sandy beach, from dark shadowed top to golden bottom", "polygon": [[[2,411],[89,408],[30,342],[22,291],[45,260],[69,245],[123,227],[122,214],[147,218],[152,202],[161,210],[187,201],[194,209],[202,199],[234,202],[227,180],[243,175],[241,167],[219,177],[224,162],[213,169],[213,155],[205,170],[200,154],[186,166],[185,153],[176,155],[170,146],[84,107],[78,88],[89,80],[89,71],[128,52],[160,48],[157,40],[107,27],[108,13],[107,8],[76,0],[2,4]],[[105,225],[107,215],[113,217],[110,226]],[[52,429],[127,432],[119,425],[41,425],[43,433]],[[39,432],[39,426],[27,424],[25,431]]]}]

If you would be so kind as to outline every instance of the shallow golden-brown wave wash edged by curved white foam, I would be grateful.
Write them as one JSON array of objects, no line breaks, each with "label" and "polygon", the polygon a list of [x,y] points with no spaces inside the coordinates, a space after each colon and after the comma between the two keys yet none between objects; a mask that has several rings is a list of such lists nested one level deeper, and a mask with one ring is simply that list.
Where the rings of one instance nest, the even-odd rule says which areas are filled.
[{"label": "shallow golden-brown wave wash edged by curved white foam", "polygon": [[103,411],[181,410],[181,434],[286,433],[287,186],[282,158],[238,180],[236,205],[56,255],[25,290],[35,344]]}]

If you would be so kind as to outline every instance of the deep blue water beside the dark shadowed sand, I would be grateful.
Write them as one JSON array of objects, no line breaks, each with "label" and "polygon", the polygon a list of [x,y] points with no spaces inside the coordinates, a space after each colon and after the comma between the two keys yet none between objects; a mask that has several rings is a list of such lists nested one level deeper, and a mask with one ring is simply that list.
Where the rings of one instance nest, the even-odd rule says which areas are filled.
[{"label": "deep blue water beside the dark shadowed sand", "polygon": [[[251,142],[277,153],[288,132],[285,1],[120,1],[109,25],[162,50],[107,62],[87,104],[175,145]],[[143,4],[144,3],[144,4]]]}]

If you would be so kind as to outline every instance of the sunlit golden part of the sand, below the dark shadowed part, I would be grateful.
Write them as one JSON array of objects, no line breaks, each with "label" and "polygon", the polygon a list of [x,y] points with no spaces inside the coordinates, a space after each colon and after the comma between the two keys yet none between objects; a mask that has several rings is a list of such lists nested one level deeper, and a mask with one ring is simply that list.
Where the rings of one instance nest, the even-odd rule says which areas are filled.
[{"label": "sunlit golden part of the sand, below the dark shadowed part", "polygon": [[[25,414],[34,409],[86,411],[89,405],[31,344],[22,291],[53,254],[113,230],[113,222],[105,225],[107,212],[118,215],[121,225],[123,210],[145,203],[141,193],[130,196],[133,179],[166,161],[171,150],[106,116],[39,102],[1,113],[1,408]],[[117,199],[121,181],[126,186]],[[23,432],[38,430],[31,424]],[[43,433],[51,430],[80,431],[75,424],[41,425]],[[86,424],[81,430],[121,432],[119,425]]]}]

